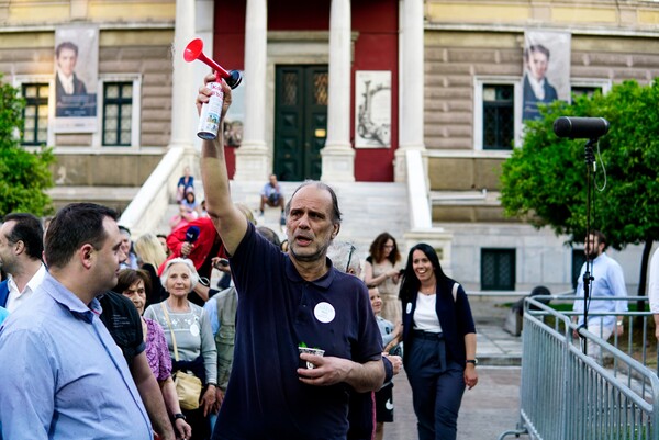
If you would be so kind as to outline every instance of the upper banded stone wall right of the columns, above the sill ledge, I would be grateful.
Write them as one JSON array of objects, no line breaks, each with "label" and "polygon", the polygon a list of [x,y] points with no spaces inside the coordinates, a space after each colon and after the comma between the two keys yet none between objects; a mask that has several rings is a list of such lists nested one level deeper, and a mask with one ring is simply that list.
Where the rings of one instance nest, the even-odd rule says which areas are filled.
[{"label": "upper banded stone wall right of the columns, above the sill ledge", "polygon": [[[425,37],[425,145],[473,149],[474,77],[523,75],[522,33],[428,31]],[[659,40],[572,35],[570,76],[648,83],[659,76]]]}]

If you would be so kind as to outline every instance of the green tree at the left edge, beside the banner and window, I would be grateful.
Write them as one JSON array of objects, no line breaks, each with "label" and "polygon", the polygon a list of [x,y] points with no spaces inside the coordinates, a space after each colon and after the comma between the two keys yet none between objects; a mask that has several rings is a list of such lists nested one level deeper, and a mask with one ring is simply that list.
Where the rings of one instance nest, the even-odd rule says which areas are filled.
[{"label": "green tree at the left edge, beside the banner and window", "polygon": [[53,187],[49,166],[55,157],[51,148],[31,153],[21,146],[18,133],[23,127],[24,105],[19,91],[0,76],[0,215],[29,212],[43,216],[53,212],[44,191]]}]

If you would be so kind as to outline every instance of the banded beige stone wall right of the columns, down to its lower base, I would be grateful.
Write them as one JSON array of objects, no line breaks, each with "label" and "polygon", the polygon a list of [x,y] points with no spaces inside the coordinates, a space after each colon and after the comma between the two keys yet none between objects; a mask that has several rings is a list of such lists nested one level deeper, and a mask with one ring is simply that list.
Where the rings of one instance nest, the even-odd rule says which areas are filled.
[{"label": "banded beige stone wall right of the columns, down to its lower base", "polygon": [[[477,77],[522,79],[524,34],[429,30],[425,34],[425,146],[431,191],[500,190],[506,151],[474,149]],[[572,80],[659,77],[659,40],[645,36],[572,35]],[[516,97],[521,99],[521,97]],[[498,203],[433,206],[434,222],[502,222]]]}]

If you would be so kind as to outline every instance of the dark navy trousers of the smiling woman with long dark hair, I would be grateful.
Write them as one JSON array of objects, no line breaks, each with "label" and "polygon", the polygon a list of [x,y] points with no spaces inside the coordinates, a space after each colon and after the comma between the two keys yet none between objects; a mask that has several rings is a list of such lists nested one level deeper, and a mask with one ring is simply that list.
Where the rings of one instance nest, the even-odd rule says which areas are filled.
[{"label": "dark navy trousers of the smiling woman with long dark hair", "polygon": [[414,331],[405,372],[412,387],[418,440],[455,440],[465,394],[465,369],[446,352],[444,339]]}]

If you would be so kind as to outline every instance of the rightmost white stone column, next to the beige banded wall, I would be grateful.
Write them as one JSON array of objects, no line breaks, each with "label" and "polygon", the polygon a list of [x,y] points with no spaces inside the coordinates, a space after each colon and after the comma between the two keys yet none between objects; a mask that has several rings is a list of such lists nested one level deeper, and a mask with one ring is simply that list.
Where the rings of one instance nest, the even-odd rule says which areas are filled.
[{"label": "rightmost white stone column, next to the beige banded wall", "polygon": [[396,182],[404,182],[406,179],[405,151],[409,149],[425,151],[423,0],[403,0],[401,8],[399,148],[395,151],[394,167]]}]

